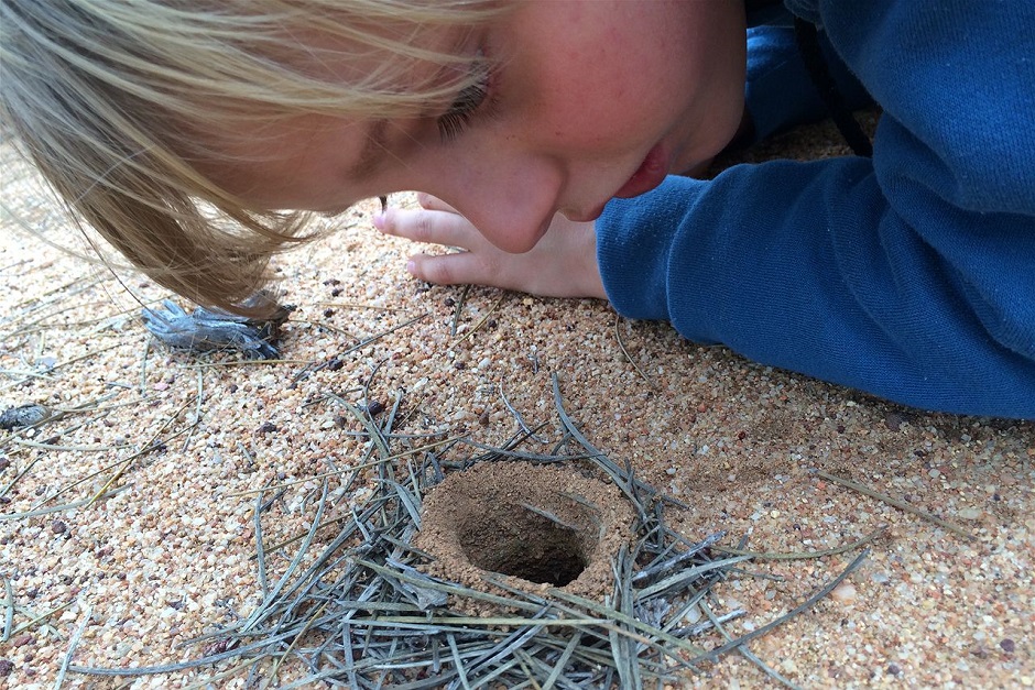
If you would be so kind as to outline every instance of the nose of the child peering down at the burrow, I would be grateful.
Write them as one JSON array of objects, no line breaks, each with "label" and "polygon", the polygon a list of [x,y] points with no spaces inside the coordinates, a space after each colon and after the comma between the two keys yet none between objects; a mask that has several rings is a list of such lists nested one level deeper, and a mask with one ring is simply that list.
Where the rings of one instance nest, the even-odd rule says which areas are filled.
[{"label": "nose of the child peering down at the burrow", "polygon": [[[460,169],[457,169],[457,168]],[[558,207],[565,176],[548,157],[529,154],[480,156],[450,165],[437,194],[460,211],[492,244],[524,253],[546,233]]]}]

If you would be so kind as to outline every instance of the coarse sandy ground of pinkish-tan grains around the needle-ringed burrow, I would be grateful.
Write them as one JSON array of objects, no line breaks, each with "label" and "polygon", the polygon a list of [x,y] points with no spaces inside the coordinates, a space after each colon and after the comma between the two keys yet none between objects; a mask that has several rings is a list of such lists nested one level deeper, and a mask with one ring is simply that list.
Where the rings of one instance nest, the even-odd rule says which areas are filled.
[{"label": "coarse sandy ground of pinkish-tan grains around the needle-ringed burrow", "polygon": [[[752,155],[829,155],[837,142],[819,127]],[[592,300],[473,288],[454,337],[461,289],[411,280],[412,248],[371,230],[372,205],[277,260],[283,299],[297,305],[282,361],[170,352],[149,346],[137,316],[138,300],[166,295],[20,230],[15,217],[83,247],[7,149],[2,183],[0,409],[35,403],[63,414],[32,432],[0,431],[0,687],[53,687],[76,637],[73,665],[173,662],[199,655],[184,642],[247,615],[259,592],[250,492],[287,485],[264,528],[270,540],[288,538],[313,517],[316,478],[361,457],[358,425],[336,401],[401,397],[402,428],[413,434],[500,445],[518,428],[500,386],[529,424],[546,423],[556,437],[553,373],[597,447],[690,506],[671,516],[689,538],[726,529],[728,544],[747,536],[756,550],[814,551],[883,528],[850,585],[751,644],[788,679],[810,688],[1035,680],[1032,424],[904,409],[697,347],[666,325],[617,320]],[[368,491],[338,486],[334,510]],[[760,562],[756,572],[782,579],[732,579],[717,587],[718,603],[749,610],[734,632],[759,627],[852,556]],[[271,554],[271,572],[288,558]],[[216,670],[122,681],[67,672],[63,682],[186,687]],[[704,670],[686,684],[771,683],[736,654]]]}]

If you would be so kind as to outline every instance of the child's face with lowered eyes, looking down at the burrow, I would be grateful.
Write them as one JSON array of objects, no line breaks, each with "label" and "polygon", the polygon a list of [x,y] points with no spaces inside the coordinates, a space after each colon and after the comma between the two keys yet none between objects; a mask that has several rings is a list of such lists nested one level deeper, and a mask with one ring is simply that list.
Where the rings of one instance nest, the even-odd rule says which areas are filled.
[{"label": "child's face with lowered eyes, looking down at the burrow", "polygon": [[596,219],[612,197],[709,160],[743,111],[742,0],[522,2],[460,50],[498,65],[483,97],[469,89],[412,120],[299,118],[228,152],[261,163],[214,176],[269,209],[426,191],[521,252],[555,212]]}]

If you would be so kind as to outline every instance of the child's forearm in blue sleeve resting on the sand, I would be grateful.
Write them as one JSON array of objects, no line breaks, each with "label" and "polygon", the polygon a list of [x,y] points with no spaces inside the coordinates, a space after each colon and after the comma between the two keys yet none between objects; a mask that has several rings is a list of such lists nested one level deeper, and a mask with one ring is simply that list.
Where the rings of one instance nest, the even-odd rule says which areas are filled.
[{"label": "child's forearm in blue sleeve resting on the sand", "polygon": [[1007,269],[1035,265],[1029,219],[980,261],[999,252],[1012,274],[998,304],[968,287],[948,239],[925,237],[944,221],[912,227],[869,161],[773,162],[612,202],[598,254],[619,311],[691,340],[917,407],[1035,417],[1035,314],[1015,304],[1035,277]]}]

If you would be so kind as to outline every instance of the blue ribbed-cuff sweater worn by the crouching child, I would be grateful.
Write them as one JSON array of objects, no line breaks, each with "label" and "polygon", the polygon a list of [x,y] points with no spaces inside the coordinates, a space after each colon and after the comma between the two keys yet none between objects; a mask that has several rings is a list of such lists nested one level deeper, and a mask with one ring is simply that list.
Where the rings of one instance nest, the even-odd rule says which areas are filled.
[{"label": "blue ribbed-cuff sweater worn by the crouching child", "polygon": [[[898,403],[1035,418],[1035,1],[786,4],[821,26],[849,97],[881,106],[873,158],[612,200],[611,303]],[[747,97],[760,136],[822,117],[791,29],[749,30]]]}]

